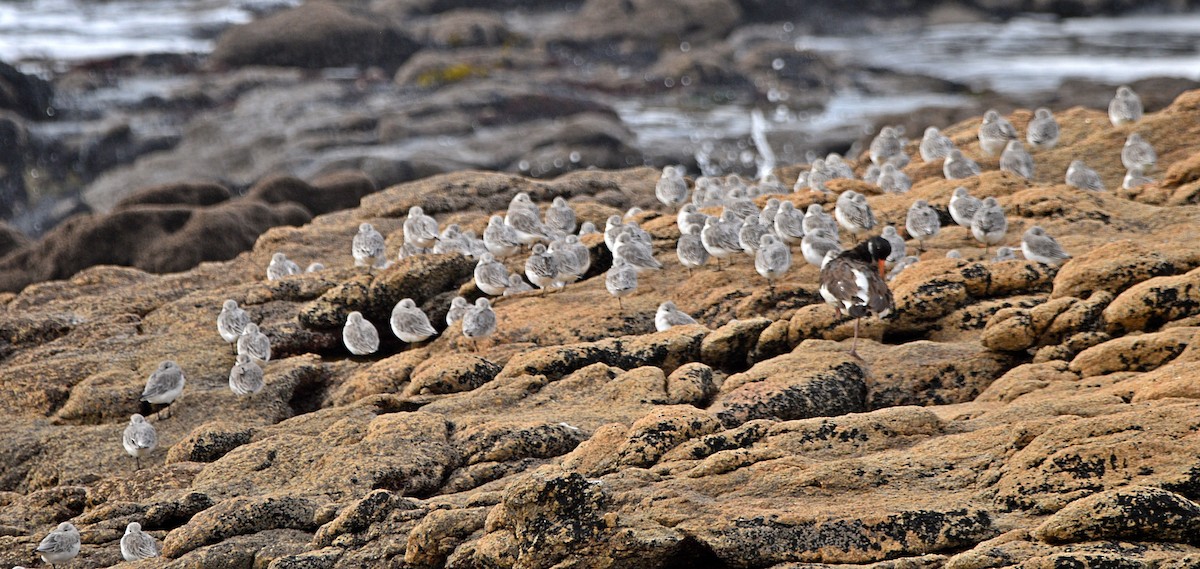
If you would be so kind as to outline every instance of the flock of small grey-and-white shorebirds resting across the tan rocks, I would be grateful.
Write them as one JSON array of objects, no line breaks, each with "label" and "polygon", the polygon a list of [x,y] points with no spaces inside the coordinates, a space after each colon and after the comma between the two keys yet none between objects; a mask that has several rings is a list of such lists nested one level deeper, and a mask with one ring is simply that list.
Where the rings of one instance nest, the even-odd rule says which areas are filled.
[{"label": "flock of small grey-and-white shorebirds resting across the tan rocks", "polygon": [[[1132,124],[1141,116],[1142,106],[1136,94],[1128,86],[1121,86],[1109,106],[1111,122],[1115,126]],[[1001,170],[1022,178],[1033,176],[1033,157],[1021,144],[1016,128],[1000,113],[985,113],[978,139],[985,154],[1000,154]],[[1025,139],[1038,151],[1052,149],[1057,144],[1058,124],[1049,109],[1036,110]],[[884,192],[907,192],[912,181],[900,169],[910,162],[905,145],[898,128],[883,127],[870,144],[871,163],[863,179],[878,185]],[[926,162],[943,160],[942,170],[947,179],[970,178],[980,173],[979,164],[962,155],[954,142],[936,127],[925,130],[918,151]],[[1123,187],[1132,188],[1150,182],[1145,172],[1156,161],[1157,155],[1150,143],[1139,133],[1129,134],[1121,152],[1121,162],[1128,172]],[[814,160],[791,191],[829,192],[827,184],[839,178],[853,179],[854,172],[841,156],[830,154]],[[1070,163],[1066,182],[1085,190],[1104,190],[1100,176],[1081,160]],[[833,215],[826,212],[820,204],[812,204],[802,212],[788,200],[769,198],[762,209],[754,203],[758,196],[787,191],[772,174],[758,182],[746,182],[736,174],[725,178],[700,176],[689,187],[683,168],[667,166],[662,169],[654,193],[665,206],[677,211],[676,223],[680,236],[676,244],[676,253],[679,264],[689,272],[704,266],[709,260],[720,270],[721,260],[732,264],[738,256],[745,254],[754,259],[755,270],[772,288],[792,266],[792,246],[800,246],[805,262],[822,266],[844,251],[841,229],[858,240],[871,234],[878,226],[866,197],[854,191],[845,191],[838,196]],[[721,215],[710,216],[701,211],[713,206],[720,206]],[[947,209],[956,224],[968,228],[974,239],[983,244],[985,257],[989,247],[1004,240],[1008,222],[1003,208],[995,198],[980,200],[972,197],[965,187],[958,187]],[[622,298],[637,289],[640,274],[662,269],[662,263],[655,258],[650,234],[634,221],[638,211],[635,208],[624,217],[608,217],[604,229],[604,242],[613,259],[605,274],[605,288],[620,307],[624,306]],[[576,228],[576,214],[563,197],[556,197],[545,215],[540,215],[527,193],[517,193],[509,204],[506,215],[493,215],[488,220],[482,238],[476,238],[469,230],[463,232],[456,224],[439,230],[438,222],[432,216],[426,215],[421,208],[413,206],[403,223],[404,242],[398,258],[460,252],[478,259],[475,284],[486,295],[520,294],[534,291],[535,287],[546,294],[578,281],[592,266],[592,252],[580,242],[580,235],[599,232],[589,222],[578,226],[577,234]],[[905,232],[917,241],[918,251],[924,251],[925,244],[935,239],[940,230],[937,210],[924,199],[914,200],[905,220]],[[918,257],[905,254],[906,240],[894,226],[883,227],[880,236],[892,247],[892,254],[887,258],[892,266],[889,278],[918,262]],[[522,275],[510,272],[503,263],[524,247],[530,247],[524,262],[524,277],[528,282]],[[1070,258],[1052,236],[1037,226],[1025,232],[1020,248],[1026,259],[1037,263],[1058,265]],[[359,226],[350,251],[355,265],[366,266],[368,271],[385,269],[391,264],[386,256],[386,241],[371,223]],[[961,253],[950,251],[947,257],[961,258]],[[992,260],[1014,258],[1014,251],[1002,246]],[[322,269],[324,266],[320,263],[313,263],[305,271]],[[268,265],[266,277],[277,280],[299,272],[302,272],[300,266],[278,252]],[[486,297],[476,299],[474,304],[456,297],[450,304],[445,322],[448,327],[461,322],[463,336],[473,342],[491,336],[497,328],[496,312]],[[654,323],[661,331],[676,325],[694,324],[696,321],[668,300],[659,306]],[[407,298],[392,309],[390,324],[392,334],[409,345],[424,342],[438,334],[426,313]],[[236,353],[235,364],[229,371],[229,389],[239,397],[252,397],[265,385],[263,365],[271,358],[270,340],[251,322],[250,313],[232,299],[223,303],[216,325],[220,336],[232,343]],[[342,339],[353,355],[368,355],[379,349],[378,330],[360,312],[347,316]],[[166,406],[160,415],[169,413],[170,405],[180,397],[184,385],[185,377],[179,365],[169,360],[162,361],[146,381],[140,399],[151,405]],[[122,432],[121,443],[134,457],[136,467],[140,468],[142,457],[157,448],[158,435],[145,417],[133,414]],[[41,541],[37,552],[46,563],[55,565],[74,558],[79,545],[79,531],[70,522],[64,522]],[[132,522],[121,538],[121,555],[127,561],[137,561],[156,557],[158,549],[155,539],[142,532],[140,525]]]}]

